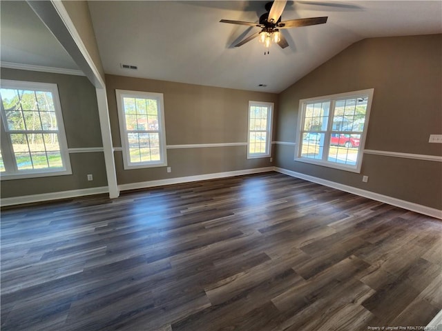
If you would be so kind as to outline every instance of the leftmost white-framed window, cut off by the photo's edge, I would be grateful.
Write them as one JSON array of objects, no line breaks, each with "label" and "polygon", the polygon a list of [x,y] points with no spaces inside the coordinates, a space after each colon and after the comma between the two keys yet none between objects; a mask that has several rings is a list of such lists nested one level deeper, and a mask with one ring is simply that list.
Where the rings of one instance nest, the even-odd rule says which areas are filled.
[{"label": "leftmost white-framed window, cut off by the photo's edge", "polygon": [[1,80],[1,179],[72,174],[56,84]]}]

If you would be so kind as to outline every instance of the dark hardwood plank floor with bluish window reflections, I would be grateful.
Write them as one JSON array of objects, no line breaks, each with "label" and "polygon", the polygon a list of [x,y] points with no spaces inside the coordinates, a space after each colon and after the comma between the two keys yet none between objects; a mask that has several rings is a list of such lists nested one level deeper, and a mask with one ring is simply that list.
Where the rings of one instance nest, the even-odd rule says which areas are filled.
[{"label": "dark hardwood plank floor with bluish window reflections", "polygon": [[1,330],[424,326],[441,234],[276,172],[3,209]]}]

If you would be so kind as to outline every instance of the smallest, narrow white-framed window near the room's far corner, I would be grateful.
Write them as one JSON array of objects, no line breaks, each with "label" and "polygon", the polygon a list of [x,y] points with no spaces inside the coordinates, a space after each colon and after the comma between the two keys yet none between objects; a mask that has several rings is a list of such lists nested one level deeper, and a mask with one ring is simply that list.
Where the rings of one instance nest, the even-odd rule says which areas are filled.
[{"label": "smallest, narrow white-framed window near the room's far corner", "polygon": [[249,101],[247,159],[271,156],[273,103]]}]

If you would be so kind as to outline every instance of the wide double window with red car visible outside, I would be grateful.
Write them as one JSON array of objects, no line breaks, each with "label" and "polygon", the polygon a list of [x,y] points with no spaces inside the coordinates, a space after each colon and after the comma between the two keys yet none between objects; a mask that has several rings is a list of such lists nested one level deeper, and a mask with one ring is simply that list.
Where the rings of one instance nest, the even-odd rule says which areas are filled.
[{"label": "wide double window with red car visible outside", "polygon": [[300,100],[295,160],[360,172],[373,92]]}]

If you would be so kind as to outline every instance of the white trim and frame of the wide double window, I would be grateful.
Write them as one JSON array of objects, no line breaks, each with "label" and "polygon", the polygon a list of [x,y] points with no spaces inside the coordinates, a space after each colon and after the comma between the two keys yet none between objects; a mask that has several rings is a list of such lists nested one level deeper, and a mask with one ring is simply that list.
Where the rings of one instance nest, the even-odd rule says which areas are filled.
[{"label": "white trim and frame of the wide double window", "polygon": [[[370,117],[370,110],[372,108],[372,101],[373,101],[373,94],[374,94],[374,88],[370,88],[367,90],[358,90],[353,92],[345,92],[345,93],[338,93],[338,94],[330,94],[323,97],[314,97],[309,99],[301,99],[299,101],[299,108],[298,108],[298,130],[296,131],[296,147],[295,147],[295,161],[304,162],[304,163],[311,163],[316,165],[322,165],[327,168],[334,168],[339,170],[345,170],[349,172],[357,172],[361,173],[361,167],[363,162],[363,152],[365,148],[365,139],[367,137],[367,131],[368,131],[368,122]],[[329,119],[333,119],[334,116],[334,103],[337,99],[347,99],[349,97],[366,97],[368,96],[367,101],[367,110],[365,112],[365,122],[364,122],[364,130],[361,133],[361,140],[359,143],[359,150],[358,150],[358,157],[356,159],[356,165],[343,165],[340,163],[334,163],[324,160],[318,160],[318,159],[309,159],[306,157],[300,157],[300,149],[302,148],[302,119],[304,117],[305,113],[305,107],[307,103],[311,103],[312,101],[331,101],[330,103],[330,114]],[[330,133],[330,126],[327,128],[327,133]],[[326,134],[327,135],[327,134]],[[329,148],[329,141],[326,139],[326,142],[328,143],[327,150],[328,152]]]}]

